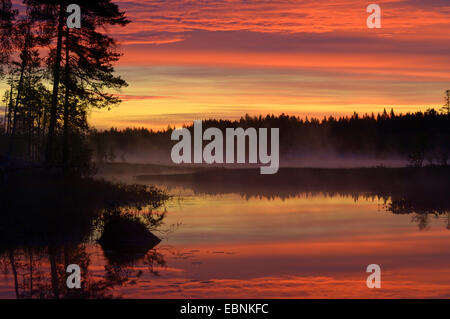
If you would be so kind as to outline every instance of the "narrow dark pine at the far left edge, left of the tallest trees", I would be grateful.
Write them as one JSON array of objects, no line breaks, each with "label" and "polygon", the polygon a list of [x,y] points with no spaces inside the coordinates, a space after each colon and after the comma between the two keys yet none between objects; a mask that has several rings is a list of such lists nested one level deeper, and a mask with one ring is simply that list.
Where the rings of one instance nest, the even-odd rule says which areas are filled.
[{"label": "narrow dark pine at the far left edge, left of the tallest trees", "polygon": [[[49,43],[50,34],[45,26],[33,19],[29,9],[27,7],[22,15],[14,12],[15,20],[9,23],[12,30],[3,31],[9,35],[9,49],[18,53],[8,63],[10,90],[4,99],[7,102],[5,132],[9,135],[8,157],[15,155],[14,147],[20,147],[19,144],[23,144],[26,136],[26,156],[28,159],[37,159],[39,141],[35,137],[40,133],[43,124],[41,115],[45,113],[40,100],[45,97],[45,87],[41,84],[44,73],[39,50]],[[14,10],[10,8],[10,11]],[[22,139],[21,142],[16,139],[16,135]]]}]

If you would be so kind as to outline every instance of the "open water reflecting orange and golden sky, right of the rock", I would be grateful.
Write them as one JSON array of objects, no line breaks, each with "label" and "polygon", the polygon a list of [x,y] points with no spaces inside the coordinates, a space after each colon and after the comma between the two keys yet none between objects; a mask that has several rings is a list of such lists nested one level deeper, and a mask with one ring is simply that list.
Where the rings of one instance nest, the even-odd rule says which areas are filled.
[{"label": "open water reflecting orange and golden sky, right of the rock", "polygon": [[[220,211],[214,210],[218,203]],[[419,232],[410,224],[410,216],[377,211],[378,200],[360,198],[355,203],[350,197],[304,196],[246,201],[224,195],[220,200],[201,197],[194,204],[180,215],[171,210],[169,218],[186,217],[186,228],[170,240],[181,252],[194,251],[195,257],[169,258],[172,267],[186,271],[163,275],[159,278],[163,281],[155,283],[158,288],[151,286],[143,294],[157,298],[444,297],[450,285],[447,230],[432,227]],[[193,260],[202,264],[192,265]],[[365,266],[375,261],[382,265],[378,292],[365,285]],[[175,282],[176,287],[166,286]]]}]

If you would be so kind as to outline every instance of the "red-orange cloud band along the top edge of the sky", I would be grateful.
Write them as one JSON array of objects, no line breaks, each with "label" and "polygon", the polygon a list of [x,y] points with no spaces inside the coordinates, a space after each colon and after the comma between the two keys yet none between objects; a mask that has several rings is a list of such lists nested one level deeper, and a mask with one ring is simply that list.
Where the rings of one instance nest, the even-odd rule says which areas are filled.
[{"label": "red-orange cloud band along the top edge of the sky", "polygon": [[[377,3],[382,7],[382,32],[425,35],[424,28],[450,23],[448,1],[379,0]],[[126,29],[115,30],[125,42],[131,43],[160,43],[155,42],[156,34],[172,37],[171,42],[181,41],[193,31],[275,34],[367,31],[367,3],[360,0],[335,0],[332,3],[313,0],[125,0],[121,1],[121,6],[133,23]],[[444,30],[435,29],[441,35],[445,34]]]}]

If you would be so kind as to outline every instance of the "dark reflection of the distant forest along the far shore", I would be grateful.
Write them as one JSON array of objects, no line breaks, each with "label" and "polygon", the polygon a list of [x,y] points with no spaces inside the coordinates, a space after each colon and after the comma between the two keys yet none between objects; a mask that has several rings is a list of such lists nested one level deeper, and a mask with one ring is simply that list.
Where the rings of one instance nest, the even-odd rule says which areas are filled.
[{"label": "dark reflection of the distant forest along the far shore", "polygon": [[280,169],[260,175],[258,169],[198,170],[192,174],[140,176],[195,194],[240,194],[243,198],[288,199],[297,196],[351,196],[382,199],[393,214],[414,214],[421,229],[429,217],[447,215],[450,228],[450,169],[446,167],[363,169]]}]

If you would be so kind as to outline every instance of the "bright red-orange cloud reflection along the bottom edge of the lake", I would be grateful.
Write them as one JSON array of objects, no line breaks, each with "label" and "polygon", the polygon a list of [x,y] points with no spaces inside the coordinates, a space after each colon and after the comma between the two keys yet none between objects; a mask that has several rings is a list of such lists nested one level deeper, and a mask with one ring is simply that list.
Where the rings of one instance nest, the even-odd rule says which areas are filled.
[{"label": "bright red-orange cloud reflection along the bottom edge of the lake", "polygon": [[[447,274],[448,275],[448,274]],[[237,279],[191,280],[164,279],[136,287],[134,297],[157,298],[445,298],[448,287],[436,282],[397,278],[384,272],[382,289],[368,289],[365,273],[348,277],[270,276]]]}]

